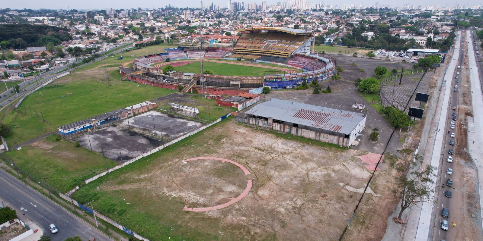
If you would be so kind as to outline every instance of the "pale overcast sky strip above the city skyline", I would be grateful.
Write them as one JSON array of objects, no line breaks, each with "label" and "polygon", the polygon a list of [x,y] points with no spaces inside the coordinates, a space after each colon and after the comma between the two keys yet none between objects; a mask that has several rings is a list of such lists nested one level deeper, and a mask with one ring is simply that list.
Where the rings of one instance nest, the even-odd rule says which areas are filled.
[{"label": "pale overcast sky strip above the city skyline", "polygon": [[[262,4],[262,0],[237,0],[243,1],[244,3],[257,3]],[[285,0],[267,0],[267,4],[276,4],[277,2],[284,2]],[[312,4],[317,3],[316,0],[308,0]],[[360,4],[362,3],[364,6],[372,6],[374,3],[378,1],[379,4],[394,4],[393,0],[330,0],[324,1],[326,4]],[[203,5],[214,2],[216,5],[221,5],[222,7],[227,6],[228,0],[204,0]],[[481,0],[470,0],[460,2],[460,6],[464,4],[466,6],[474,6],[480,5]],[[22,1],[8,1],[2,0],[0,4],[0,8],[12,8],[12,9],[24,9],[24,8],[31,8],[31,9],[40,9],[40,8],[48,8],[48,9],[106,9],[106,8],[114,8],[114,9],[127,9],[127,8],[152,8],[154,4],[155,8],[164,7],[166,4],[171,3],[177,7],[184,8],[184,7],[200,7],[199,0],[181,0],[181,1],[159,1],[159,0],[116,0],[116,1],[99,1],[99,0],[82,0],[82,1],[70,1],[70,0],[22,0]],[[434,5],[440,4],[441,7],[444,7],[446,4],[448,6],[456,5],[455,1],[452,0],[406,0],[398,2],[400,5],[404,5],[406,3],[412,5],[418,4],[427,4],[427,5]]]}]

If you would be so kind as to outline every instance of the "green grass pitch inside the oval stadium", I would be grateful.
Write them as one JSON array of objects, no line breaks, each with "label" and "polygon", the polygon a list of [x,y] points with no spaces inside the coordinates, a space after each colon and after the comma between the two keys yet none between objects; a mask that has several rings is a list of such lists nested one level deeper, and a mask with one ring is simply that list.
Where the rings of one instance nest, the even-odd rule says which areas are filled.
[{"label": "green grass pitch inside the oval stadium", "polygon": [[[174,68],[177,71],[188,72],[188,73],[199,73],[199,63],[194,62],[193,64],[184,65]],[[265,67],[251,67],[251,66],[241,66],[241,65],[231,65],[213,62],[204,62],[204,69],[212,71],[215,75],[231,75],[231,76],[263,76],[265,71],[273,71],[271,68]]]}]

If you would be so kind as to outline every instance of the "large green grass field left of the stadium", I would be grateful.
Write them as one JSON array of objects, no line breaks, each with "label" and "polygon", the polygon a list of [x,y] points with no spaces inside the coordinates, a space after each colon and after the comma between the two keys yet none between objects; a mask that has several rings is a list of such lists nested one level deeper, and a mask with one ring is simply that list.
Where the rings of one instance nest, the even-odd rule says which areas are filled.
[{"label": "large green grass field left of the stadium", "polygon": [[[120,74],[116,69],[111,70],[110,76],[114,80],[108,84],[92,81],[92,76],[102,77],[102,70],[73,73],[48,85],[60,85],[57,88],[41,89],[30,94],[20,107],[8,112],[2,120],[13,127],[12,133],[6,136],[7,142],[10,145],[19,144],[56,131],[61,125],[174,92],[120,81]],[[45,121],[42,121],[40,115],[36,117],[35,112],[43,114]]]}]

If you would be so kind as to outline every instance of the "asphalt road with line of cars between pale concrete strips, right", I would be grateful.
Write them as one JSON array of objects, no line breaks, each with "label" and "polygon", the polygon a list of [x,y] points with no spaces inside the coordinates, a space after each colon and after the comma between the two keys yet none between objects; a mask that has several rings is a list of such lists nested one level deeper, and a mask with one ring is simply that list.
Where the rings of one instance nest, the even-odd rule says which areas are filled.
[{"label": "asphalt road with line of cars between pale concrete strips, right", "polygon": [[[463,32],[464,33],[464,32]],[[463,120],[464,117],[456,116],[455,120],[455,129],[451,129],[451,121],[453,119],[453,114],[458,113],[458,95],[460,94],[460,91],[458,88],[455,88],[455,85],[461,86],[462,83],[466,82],[468,83],[468,78],[462,78],[461,75],[463,72],[467,73],[469,66],[467,63],[463,63],[463,58],[465,56],[465,48],[463,46],[466,46],[466,41],[467,36],[464,36],[464,39],[461,39],[461,52],[459,55],[458,59],[458,66],[460,68],[458,69],[456,67],[455,69],[455,74],[453,75],[453,80],[450,83],[448,81],[447,86],[451,88],[451,96],[450,96],[450,105],[449,105],[449,110],[448,114],[446,116],[447,121],[446,121],[446,126],[444,130],[441,130],[445,133],[444,139],[443,139],[443,147],[441,148],[441,165],[440,165],[440,170],[439,170],[439,175],[440,175],[440,182],[437,183],[440,186],[436,187],[437,190],[439,190],[438,194],[435,194],[435,198],[437,198],[437,210],[435,215],[435,222],[434,222],[434,232],[433,232],[433,240],[434,241],[440,241],[440,240],[457,240],[456,232],[452,231],[452,222],[455,222],[456,224],[459,223],[460,217],[464,214],[461,213],[460,207],[461,207],[461,199],[462,195],[461,193],[458,193],[463,190],[462,186],[460,183],[458,183],[458,179],[460,176],[460,173],[462,173],[462,170],[458,168],[455,164],[457,158],[453,154],[449,154],[449,150],[453,149],[454,152],[456,151],[456,148],[458,148],[458,143],[455,143],[455,145],[450,145],[449,142],[451,140],[456,142],[456,135],[458,134],[456,130],[458,129],[459,126],[459,121]],[[472,40],[471,40],[472,41]],[[458,74],[459,73],[459,74]],[[458,77],[458,79],[456,79]],[[458,80],[459,82],[456,82]],[[454,90],[457,90],[457,92],[454,92]],[[453,107],[456,107],[456,110],[453,110]],[[455,137],[451,137],[451,133],[455,133]],[[465,145],[465,143],[461,143],[460,145]],[[461,147],[462,148],[462,147]],[[448,162],[447,159],[448,157],[452,157],[454,160],[453,162]],[[448,168],[451,168],[453,171],[453,174],[448,174]],[[457,174],[456,172],[459,173]],[[446,186],[446,181],[448,178],[453,179],[453,186],[452,187],[447,187]],[[441,187],[442,183],[444,183],[445,187]],[[447,198],[445,196],[445,191],[451,191],[451,198]],[[444,218],[441,216],[441,211],[443,208],[448,208],[449,209],[449,215],[448,218]],[[442,230],[441,229],[441,221],[442,220],[447,220],[448,221],[448,231]],[[462,227],[459,227],[462,228]]]}]

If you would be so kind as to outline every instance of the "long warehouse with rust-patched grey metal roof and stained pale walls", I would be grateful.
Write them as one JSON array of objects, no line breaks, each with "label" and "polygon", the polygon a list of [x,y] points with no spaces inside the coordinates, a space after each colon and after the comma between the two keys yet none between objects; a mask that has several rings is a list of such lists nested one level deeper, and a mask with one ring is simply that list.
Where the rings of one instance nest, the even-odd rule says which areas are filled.
[{"label": "long warehouse with rust-patched grey metal roof and stained pale walls", "polygon": [[366,114],[271,98],[236,118],[313,140],[350,147],[366,125]]}]

